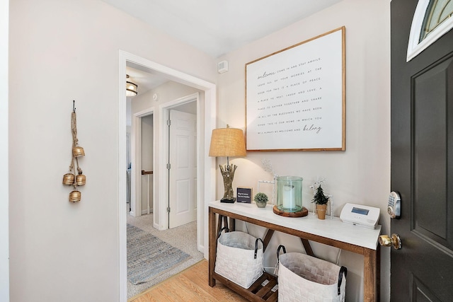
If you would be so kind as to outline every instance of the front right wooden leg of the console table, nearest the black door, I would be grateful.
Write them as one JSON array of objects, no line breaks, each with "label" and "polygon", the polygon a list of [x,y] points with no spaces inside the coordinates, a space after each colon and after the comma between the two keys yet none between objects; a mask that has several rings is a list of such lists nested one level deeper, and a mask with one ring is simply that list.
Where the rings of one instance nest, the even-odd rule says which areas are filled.
[{"label": "front right wooden leg of the console table, nearest the black door", "polygon": [[364,250],[364,269],[363,269],[363,298],[365,302],[377,300],[377,250]]}]

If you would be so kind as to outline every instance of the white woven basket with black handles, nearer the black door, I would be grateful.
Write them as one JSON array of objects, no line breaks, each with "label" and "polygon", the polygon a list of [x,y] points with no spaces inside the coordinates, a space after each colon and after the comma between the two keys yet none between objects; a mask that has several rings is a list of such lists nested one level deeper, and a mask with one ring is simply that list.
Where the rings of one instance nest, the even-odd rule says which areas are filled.
[{"label": "white woven basket with black handles, nearer the black door", "polygon": [[346,271],[345,267],[299,252],[280,255],[278,301],[343,302]]}]

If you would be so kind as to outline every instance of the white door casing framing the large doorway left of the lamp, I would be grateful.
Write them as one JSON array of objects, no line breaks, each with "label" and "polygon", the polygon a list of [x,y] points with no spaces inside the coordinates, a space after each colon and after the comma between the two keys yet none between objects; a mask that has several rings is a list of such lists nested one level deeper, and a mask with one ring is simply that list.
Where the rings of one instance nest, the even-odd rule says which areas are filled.
[{"label": "white door casing framing the large doorway left of the lamp", "polygon": [[[170,69],[156,62],[151,62],[142,57],[137,57],[134,54],[119,52],[119,73],[118,73],[118,169],[123,171],[127,166],[126,163],[126,96],[125,96],[125,85],[124,75],[126,74],[126,65],[134,64],[141,68],[147,69],[147,71],[153,74],[159,74],[160,76],[166,77],[166,79],[175,81],[177,83],[183,83],[184,85],[197,88],[200,91],[204,91],[203,98],[199,101],[200,105],[198,110],[199,115],[199,133],[198,137],[198,150],[199,150],[199,166],[197,179],[197,246],[200,251],[203,252],[205,258],[208,257],[208,245],[207,245],[207,203],[205,200],[214,200],[215,198],[215,161],[214,158],[207,156],[209,153],[210,135],[212,129],[215,128],[215,100],[216,100],[216,86],[213,83],[209,83],[202,79],[198,79],[189,74]],[[160,110],[165,110],[163,107]],[[154,134],[161,135],[154,127]],[[156,132],[158,131],[158,132]],[[160,148],[159,148],[160,149]],[[160,153],[160,151],[159,151]],[[154,165],[154,168],[157,168]],[[159,168],[160,170],[160,168]],[[119,250],[119,261],[120,261],[120,301],[127,301],[127,249],[126,249],[126,199],[127,199],[127,188],[126,188],[126,173],[118,173],[118,250]],[[155,180],[160,183],[161,180]],[[160,192],[161,190],[159,190]],[[156,209],[157,205],[160,205],[161,197],[159,193],[156,194],[154,200],[154,212],[159,211]],[[159,202],[156,202],[159,199]],[[159,211],[160,213],[161,211]],[[159,219],[159,225],[162,220],[165,219],[160,215],[154,216]],[[156,223],[156,222],[155,222]]]}]

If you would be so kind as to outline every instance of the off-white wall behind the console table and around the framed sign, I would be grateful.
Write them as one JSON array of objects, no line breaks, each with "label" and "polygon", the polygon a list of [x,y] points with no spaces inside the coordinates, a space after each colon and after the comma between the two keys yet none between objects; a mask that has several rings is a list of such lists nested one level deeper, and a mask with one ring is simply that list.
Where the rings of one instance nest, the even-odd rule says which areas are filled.
[{"label": "off-white wall behind the console table and around the framed sign", "polygon": [[[272,179],[261,164],[268,159],[278,175],[304,178],[304,207],[312,209],[309,185],[321,175],[327,178],[326,192],[333,194],[336,216],[346,202],[379,207],[382,232],[389,232],[386,215],[390,191],[389,2],[345,0],[219,58],[219,62],[224,59],[229,62],[229,71],[219,75],[218,126],[229,124],[245,129],[245,64],[340,26],[346,28],[346,151],[248,152],[246,158],[232,161],[238,165],[235,187],[253,187],[257,192],[258,180]],[[217,197],[222,194],[222,178],[217,175]],[[255,232],[263,235],[263,230]],[[289,251],[303,251],[300,240],[281,233],[271,240],[270,250],[276,250],[278,243],[289,246]],[[316,255],[335,262],[336,248],[314,244],[313,249]],[[269,253],[265,266],[274,267],[275,261],[275,253]],[[342,252],[340,263],[349,270],[348,301],[360,301],[363,257]],[[382,301],[389,299],[389,274],[389,249],[384,248]]]}]

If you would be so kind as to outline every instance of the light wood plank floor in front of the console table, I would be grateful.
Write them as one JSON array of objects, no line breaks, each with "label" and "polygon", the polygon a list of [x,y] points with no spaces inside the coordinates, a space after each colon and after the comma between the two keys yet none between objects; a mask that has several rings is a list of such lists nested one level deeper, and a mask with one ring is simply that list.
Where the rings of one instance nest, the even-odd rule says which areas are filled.
[{"label": "light wood plank floor in front of the console table", "polygon": [[151,287],[129,302],[151,301],[248,301],[231,291],[219,281],[208,284],[208,263],[202,260],[176,276]]}]

